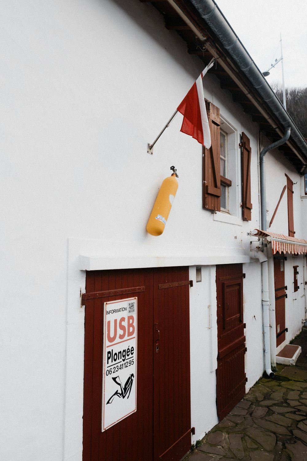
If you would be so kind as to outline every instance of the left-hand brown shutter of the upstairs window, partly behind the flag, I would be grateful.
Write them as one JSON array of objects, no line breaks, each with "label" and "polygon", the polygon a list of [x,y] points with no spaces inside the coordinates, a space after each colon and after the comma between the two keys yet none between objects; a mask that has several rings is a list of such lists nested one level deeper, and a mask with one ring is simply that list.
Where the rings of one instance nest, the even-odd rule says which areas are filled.
[{"label": "left-hand brown shutter of the upstairs window, partly behind the flag", "polygon": [[220,211],[220,109],[208,100],[211,147],[203,148],[203,208]]}]

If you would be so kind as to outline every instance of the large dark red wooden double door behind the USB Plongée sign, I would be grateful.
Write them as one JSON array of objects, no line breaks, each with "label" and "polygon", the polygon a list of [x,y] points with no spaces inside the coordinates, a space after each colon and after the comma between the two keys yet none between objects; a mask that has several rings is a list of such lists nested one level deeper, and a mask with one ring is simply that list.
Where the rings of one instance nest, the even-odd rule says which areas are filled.
[{"label": "large dark red wooden double door behind the USB Plong\u00e9e sign", "polygon": [[[189,285],[159,289],[188,275],[188,268],[87,272],[94,299],[85,307],[83,461],[179,460],[190,449]],[[134,296],[137,410],[101,432],[104,302]]]}]

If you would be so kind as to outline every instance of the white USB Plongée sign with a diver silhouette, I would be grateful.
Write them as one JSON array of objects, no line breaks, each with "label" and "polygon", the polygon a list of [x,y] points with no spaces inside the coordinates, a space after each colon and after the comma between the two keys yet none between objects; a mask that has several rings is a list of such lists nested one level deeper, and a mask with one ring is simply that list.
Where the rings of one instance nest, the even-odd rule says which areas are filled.
[{"label": "white USB Plong\u00e9e sign with a diver silhouette", "polygon": [[136,411],[137,301],[104,302],[102,432]]}]

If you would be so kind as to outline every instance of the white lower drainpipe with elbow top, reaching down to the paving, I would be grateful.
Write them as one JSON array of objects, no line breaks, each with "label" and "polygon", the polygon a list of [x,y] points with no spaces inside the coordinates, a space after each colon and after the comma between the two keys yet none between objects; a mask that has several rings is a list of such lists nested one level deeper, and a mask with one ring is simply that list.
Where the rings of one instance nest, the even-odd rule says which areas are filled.
[{"label": "white lower drainpipe with elbow top, reaching down to the paving", "polygon": [[261,251],[251,251],[250,257],[258,259],[261,263],[262,273],[262,321],[264,335],[264,364],[266,374],[273,378],[274,373],[271,370],[271,348],[270,348],[270,319],[269,319],[269,278],[267,268],[267,257]]}]

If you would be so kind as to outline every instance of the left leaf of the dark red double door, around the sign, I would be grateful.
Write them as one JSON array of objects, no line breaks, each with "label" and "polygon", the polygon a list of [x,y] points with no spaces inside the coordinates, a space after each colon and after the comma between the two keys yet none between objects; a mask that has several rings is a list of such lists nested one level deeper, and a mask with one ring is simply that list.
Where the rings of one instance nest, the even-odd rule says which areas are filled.
[{"label": "left leaf of the dark red double door, around the sign", "polygon": [[[143,291],[136,291],[143,288]],[[153,451],[153,271],[87,272],[86,292],[129,289],[90,299],[85,307],[83,461],[151,460]],[[103,307],[105,301],[138,298],[137,411],[101,432]]]}]

